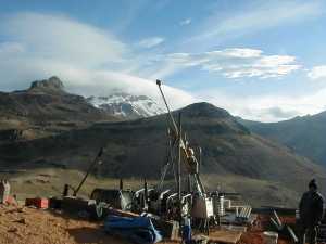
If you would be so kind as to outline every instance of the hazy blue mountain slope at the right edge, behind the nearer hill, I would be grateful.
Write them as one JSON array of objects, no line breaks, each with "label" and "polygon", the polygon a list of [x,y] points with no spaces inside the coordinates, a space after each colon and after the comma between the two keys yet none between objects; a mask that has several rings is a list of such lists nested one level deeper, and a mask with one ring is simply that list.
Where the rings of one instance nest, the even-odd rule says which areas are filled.
[{"label": "hazy blue mountain slope at the right edge, behind the nearer hill", "polygon": [[326,167],[326,112],[279,123],[239,121],[252,132],[284,144]]}]

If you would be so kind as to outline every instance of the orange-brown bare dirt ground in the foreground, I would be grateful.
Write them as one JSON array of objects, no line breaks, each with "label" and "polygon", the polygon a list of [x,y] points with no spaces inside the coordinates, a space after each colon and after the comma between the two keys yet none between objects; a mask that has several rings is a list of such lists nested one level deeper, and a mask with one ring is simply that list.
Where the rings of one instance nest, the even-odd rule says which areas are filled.
[{"label": "orange-brown bare dirt ground in the foreground", "polygon": [[[256,224],[242,234],[239,244],[263,244],[266,221],[266,218],[259,217]],[[129,244],[127,241],[104,233],[101,222],[72,218],[60,211],[0,205],[0,244],[11,243]],[[171,243],[176,242],[163,242],[163,244]],[[288,243],[289,241],[278,240],[278,244]]]}]

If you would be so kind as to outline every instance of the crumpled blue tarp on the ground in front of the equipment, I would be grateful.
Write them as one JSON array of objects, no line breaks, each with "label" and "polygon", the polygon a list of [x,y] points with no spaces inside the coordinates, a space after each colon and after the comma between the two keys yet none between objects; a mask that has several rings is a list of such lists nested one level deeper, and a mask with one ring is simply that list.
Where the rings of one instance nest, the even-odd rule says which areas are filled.
[{"label": "crumpled blue tarp on the ground in front of the equipment", "polygon": [[128,218],[109,215],[104,229],[108,233],[118,234],[137,244],[151,244],[162,240],[162,235],[148,217]]}]

